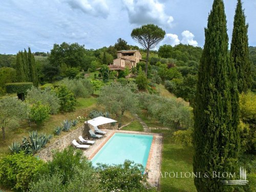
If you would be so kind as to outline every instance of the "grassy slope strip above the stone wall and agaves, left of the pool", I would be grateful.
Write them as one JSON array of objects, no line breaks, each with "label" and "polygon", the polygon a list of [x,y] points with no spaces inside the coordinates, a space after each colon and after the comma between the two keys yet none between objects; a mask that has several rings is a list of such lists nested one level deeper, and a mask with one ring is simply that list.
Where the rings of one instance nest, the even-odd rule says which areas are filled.
[{"label": "grassy slope strip above the stone wall and agaves, left of the pool", "polygon": [[[11,145],[14,141],[21,141],[22,137],[28,137],[29,133],[37,130],[38,133],[46,133],[46,134],[53,134],[55,127],[59,125],[65,119],[75,119],[77,116],[87,116],[87,114],[92,110],[96,109],[96,98],[89,97],[89,98],[78,98],[77,99],[77,106],[76,110],[69,113],[59,113],[57,115],[51,115],[50,119],[42,125],[33,124],[29,126],[27,122],[20,124],[19,127],[15,129],[6,129],[6,140],[2,139],[2,132],[0,132],[0,156],[8,154],[9,148],[8,146]],[[77,127],[81,126],[82,122],[80,122],[76,127],[72,127],[72,129],[76,129]],[[61,132],[59,136],[54,135],[51,142],[54,140],[62,137],[63,135],[68,134],[65,132]]]}]

